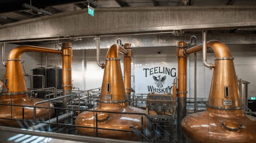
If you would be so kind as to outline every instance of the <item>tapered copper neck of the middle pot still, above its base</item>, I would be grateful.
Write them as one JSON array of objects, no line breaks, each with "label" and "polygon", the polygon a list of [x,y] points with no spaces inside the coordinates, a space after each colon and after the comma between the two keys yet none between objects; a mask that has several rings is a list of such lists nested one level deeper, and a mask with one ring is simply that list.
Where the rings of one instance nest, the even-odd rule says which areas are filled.
[{"label": "tapered copper neck of the middle pot still, above its base", "polygon": [[113,44],[106,54],[99,108],[104,108],[105,105],[102,105],[104,103],[122,103],[122,106],[127,106],[119,51],[124,54],[128,53],[121,45]]}]

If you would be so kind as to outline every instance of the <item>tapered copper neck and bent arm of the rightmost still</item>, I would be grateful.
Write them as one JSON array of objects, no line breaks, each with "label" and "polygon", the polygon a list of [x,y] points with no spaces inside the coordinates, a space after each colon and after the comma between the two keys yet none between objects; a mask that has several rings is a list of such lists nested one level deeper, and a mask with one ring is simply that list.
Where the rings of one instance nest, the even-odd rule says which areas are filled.
[{"label": "tapered copper neck and bent arm of the rightmost still", "polygon": [[[187,49],[190,54],[200,51],[202,45]],[[228,47],[220,41],[207,42],[207,48],[214,51],[215,66],[212,77],[212,85],[209,93],[208,107],[214,109],[238,110],[242,109],[240,93],[238,92],[237,76],[234,69],[232,55]]]}]

